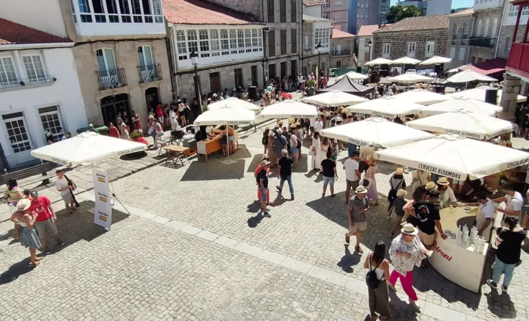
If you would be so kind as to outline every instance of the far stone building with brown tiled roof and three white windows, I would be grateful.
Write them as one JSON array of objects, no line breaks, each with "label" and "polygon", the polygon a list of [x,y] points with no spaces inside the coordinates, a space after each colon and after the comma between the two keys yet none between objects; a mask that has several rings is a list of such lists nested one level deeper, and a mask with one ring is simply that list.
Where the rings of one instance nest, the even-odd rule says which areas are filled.
[{"label": "far stone building with brown tiled roof and three white windows", "polygon": [[447,43],[447,15],[406,18],[373,32],[373,58],[426,60],[444,56]]}]

